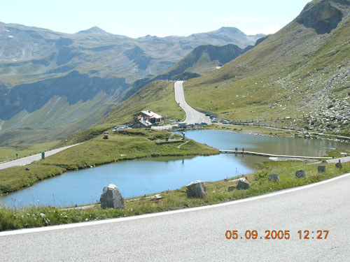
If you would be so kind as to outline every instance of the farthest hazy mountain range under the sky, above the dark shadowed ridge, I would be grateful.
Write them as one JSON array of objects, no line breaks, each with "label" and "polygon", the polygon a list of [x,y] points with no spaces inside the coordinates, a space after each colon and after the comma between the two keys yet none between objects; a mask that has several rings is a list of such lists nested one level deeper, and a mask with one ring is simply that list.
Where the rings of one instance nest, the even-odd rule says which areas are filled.
[{"label": "farthest hazy mountain range under the sky, above the dark shadowed ridge", "polygon": [[98,27],[63,34],[48,29],[0,23],[0,85],[13,87],[62,76],[70,71],[116,76],[126,82],[158,75],[199,45],[252,45],[261,35],[246,36],[223,28],[188,37],[129,38]]}]

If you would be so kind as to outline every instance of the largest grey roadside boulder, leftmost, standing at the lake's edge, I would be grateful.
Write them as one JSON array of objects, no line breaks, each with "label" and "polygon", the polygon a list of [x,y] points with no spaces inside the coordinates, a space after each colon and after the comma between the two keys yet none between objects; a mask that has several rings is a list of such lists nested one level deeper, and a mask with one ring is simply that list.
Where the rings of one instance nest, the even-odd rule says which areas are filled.
[{"label": "largest grey roadside boulder, leftmost, standing at the lake's edge", "polygon": [[99,198],[101,202],[101,208],[117,208],[124,209],[125,203],[122,194],[118,187],[115,184],[109,184],[107,187],[104,187],[104,191],[102,191],[102,195]]}]

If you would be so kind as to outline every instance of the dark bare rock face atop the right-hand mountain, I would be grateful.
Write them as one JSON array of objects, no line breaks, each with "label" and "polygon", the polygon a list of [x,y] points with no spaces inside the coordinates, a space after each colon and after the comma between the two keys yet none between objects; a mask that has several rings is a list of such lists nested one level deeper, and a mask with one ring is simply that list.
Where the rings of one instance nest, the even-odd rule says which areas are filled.
[{"label": "dark bare rock face atop the right-hand mountain", "polygon": [[[339,1],[349,5],[348,1]],[[297,22],[305,27],[313,28],[317,34],[328,34],[337,27],[342,20],[342,11],[336,8],[328,0],[311,2],[305,6],[302,13],[297,17]]]}]

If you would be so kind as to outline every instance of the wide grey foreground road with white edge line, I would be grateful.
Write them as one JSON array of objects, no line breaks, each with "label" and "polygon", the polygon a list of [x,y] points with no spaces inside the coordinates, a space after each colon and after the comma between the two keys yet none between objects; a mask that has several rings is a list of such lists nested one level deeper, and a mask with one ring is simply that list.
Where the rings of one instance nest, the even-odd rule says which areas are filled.
[{"label": "wide grey foreground road with white edge line", "polygon": [[[347,174],[220,205],[3,232],[0,261],[349,261],[349,186]],[[258,238],[245,239],[253,230]],[[290,238],[265,239],[273,230]],[[316,240],[318,230],[327,239]]]}]

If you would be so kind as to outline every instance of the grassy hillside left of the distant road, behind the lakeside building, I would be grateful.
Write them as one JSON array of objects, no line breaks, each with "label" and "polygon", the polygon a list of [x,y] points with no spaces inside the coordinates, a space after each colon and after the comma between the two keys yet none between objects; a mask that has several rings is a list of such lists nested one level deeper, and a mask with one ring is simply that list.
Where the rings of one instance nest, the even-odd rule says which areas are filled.
[{"label": "grassy hillside left of the distant road, behind the lakeside building", "polygon": [[132,122],[133,115],[148,109],[163,117],[168,115],[168,119],[185,118],[185,112],[175,102],[174,82],[156,81],[146,85],[130,99],[117,105],[97,124]]}]

